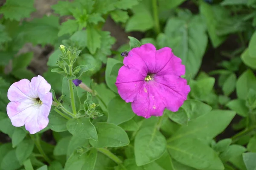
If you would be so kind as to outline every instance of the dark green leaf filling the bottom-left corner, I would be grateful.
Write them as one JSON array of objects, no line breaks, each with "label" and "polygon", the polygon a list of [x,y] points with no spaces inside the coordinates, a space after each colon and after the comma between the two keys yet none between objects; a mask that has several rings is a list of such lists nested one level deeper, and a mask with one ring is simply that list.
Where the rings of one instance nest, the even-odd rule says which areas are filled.
[{"label": "dark green leaf filling the bottom-left corner", "polygon": [[15,150],[11,150],[3,157],[1,168],[3,170],[17,170],[21,167],[21,165],[22,162],[19,163],[19,161],[17,160]]}]

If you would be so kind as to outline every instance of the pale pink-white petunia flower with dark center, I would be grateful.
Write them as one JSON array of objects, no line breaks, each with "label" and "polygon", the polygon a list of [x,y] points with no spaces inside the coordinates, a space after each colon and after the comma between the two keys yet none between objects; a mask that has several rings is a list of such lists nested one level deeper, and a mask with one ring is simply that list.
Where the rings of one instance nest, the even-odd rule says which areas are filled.
[{"label": "pale pink-white petunia flower with dark center", "polygon": [[7,93],[11,101],[7,105],[7,114],[12,125],[25,125],[31,134],[47,127],[52,105],[50,89],[51,85],[41,76],[33,77],[31,82],[22,79],[13,83]]}]

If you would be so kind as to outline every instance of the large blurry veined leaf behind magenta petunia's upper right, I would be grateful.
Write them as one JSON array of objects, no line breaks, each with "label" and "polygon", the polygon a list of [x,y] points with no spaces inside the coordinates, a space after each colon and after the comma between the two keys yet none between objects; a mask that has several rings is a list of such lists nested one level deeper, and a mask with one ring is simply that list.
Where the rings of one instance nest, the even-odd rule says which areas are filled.
[{"label": "large blurry veined leaf behind magenta petunia's upper right", "polygon": [[[187,14],[183,17],[171,17],[164,29],[166,45],[182,59],[186,66],[186,76],[195,77],[201,67],[202,58],[207,47],[207,34],[204,21],[199,15]],[[195,45],[197,44],[197,45]]]}]

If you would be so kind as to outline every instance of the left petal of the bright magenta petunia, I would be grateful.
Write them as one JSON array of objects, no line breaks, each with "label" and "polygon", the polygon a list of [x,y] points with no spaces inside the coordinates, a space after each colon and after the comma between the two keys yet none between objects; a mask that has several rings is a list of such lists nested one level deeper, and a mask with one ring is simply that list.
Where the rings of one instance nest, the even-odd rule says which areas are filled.
[{"label": "left petal of the bright magenta petunia", "polygon": [[118,93],[125,102],[133,102],[140,87],[144,83],[146,75],[138,73],[133,68],[122,66],[119,69],[118,77],[116,78],[116,87]]}]

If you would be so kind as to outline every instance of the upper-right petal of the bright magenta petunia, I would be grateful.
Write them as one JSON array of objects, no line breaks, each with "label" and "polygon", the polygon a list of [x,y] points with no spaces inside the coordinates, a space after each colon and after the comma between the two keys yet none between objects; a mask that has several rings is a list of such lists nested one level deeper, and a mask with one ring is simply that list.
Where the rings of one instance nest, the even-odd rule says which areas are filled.
[{"label": "upper-right petal of the bright magenta petunia", "polygon": [[176,57],[172,53],[172,49],[169,47],[161,48],[156,52],[157,74],[175,74],[181,76],[185,74],[185,65],[181,64],[181,59]]}]

